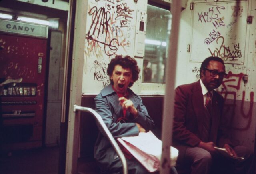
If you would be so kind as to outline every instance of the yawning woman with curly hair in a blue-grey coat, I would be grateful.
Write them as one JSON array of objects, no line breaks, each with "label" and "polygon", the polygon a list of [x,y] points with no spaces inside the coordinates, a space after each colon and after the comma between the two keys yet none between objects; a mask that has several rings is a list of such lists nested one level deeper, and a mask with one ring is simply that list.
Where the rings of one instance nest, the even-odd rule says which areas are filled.
[{"label": "yawning woman with curly hair in a blue-grey coat", "polygon": [[[134,58],[116,56],[108,64],[107,73],[111,84],[94,98],[95,110],[102,116],[114,138],[137,136],[139,132],[147,132],[154,126],[140,96],[128,88],[138,80],[139,72]],[[148,173],[131,154],[124,152],[124,155],[129,174]],[[101,130],[96,140],[94,158],[102,172],[122,173],[122,162]]]}]

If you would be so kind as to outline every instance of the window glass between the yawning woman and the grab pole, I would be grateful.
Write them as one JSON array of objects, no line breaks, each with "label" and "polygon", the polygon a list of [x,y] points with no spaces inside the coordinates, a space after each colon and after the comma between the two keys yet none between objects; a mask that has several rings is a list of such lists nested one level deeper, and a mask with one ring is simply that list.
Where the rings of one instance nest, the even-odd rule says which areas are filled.
[{"label": "window glass between the yawning woman and the grab pole", "polygon": [[169,40],[168,24],[171,23],[169,20],[171,14],[169,10],[151,5],[148,5],[147,13],[142,82],[164,83],[167,43]]}]

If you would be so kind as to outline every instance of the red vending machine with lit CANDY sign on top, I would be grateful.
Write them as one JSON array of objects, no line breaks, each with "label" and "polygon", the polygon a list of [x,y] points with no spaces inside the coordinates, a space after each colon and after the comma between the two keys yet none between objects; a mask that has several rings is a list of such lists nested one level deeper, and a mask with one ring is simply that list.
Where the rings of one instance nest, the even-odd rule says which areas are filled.
[{"label": "red vending machine with lit CANDY sign on top", "polygon": [[42,146],[48,26],[0,20],[2,150]]}]

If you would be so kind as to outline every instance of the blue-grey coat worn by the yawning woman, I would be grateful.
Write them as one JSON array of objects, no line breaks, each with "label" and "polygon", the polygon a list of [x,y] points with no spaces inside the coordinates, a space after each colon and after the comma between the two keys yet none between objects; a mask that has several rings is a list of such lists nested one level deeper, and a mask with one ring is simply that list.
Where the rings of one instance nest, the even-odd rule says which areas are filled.
[{"label": "blue-grey coat worn by the yawning woman", "polygon": [[[134,107],[138,110],[138,116],[134,118],[130,112],[126,111],[126,123],[116,123],[116,120],[123,117],[122,106],[118,101],[118,95],[112,89],[112,85],[106,86],[95,98],[95,110],[102,116],[102,119],[114,138],[123,136],[136,136],[139,134],[138,127],[135,123],[140,124],[146,131],[151,130],[154,126],[153,120],[148,115],[146,107],[142,104],[140,96],[136,95],[130,88],[129,98],[132,100]],[[111,166],[111,162],[117,160],[116,152],[110,144],[108,138],[99,129],[98,138],[94,146],[94,158],[104,167]],[[107,165],[107,166],[106,166]]]}]

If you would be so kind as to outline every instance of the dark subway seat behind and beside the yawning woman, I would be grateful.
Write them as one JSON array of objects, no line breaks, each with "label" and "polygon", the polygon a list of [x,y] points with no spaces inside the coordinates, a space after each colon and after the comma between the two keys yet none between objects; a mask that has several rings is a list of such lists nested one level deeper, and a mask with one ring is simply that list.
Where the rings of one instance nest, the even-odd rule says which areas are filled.
[{"label": "dark subway seat behind and beside the yawning woman", "polygon": [[[95,95],[82,95],[81,106],[94,109],[94,97]],[[164,96],[141,96],[141,98],[148,110],[149,116],[155,123],[151,131],[160,139]],[[98,127],[96,126],[94,117],[87,112],[81,112],[78,174],[104,174],[96,165],[93,156],[97,135]],[[159,172],[154,172],[153,174],[157,173]]]}]

